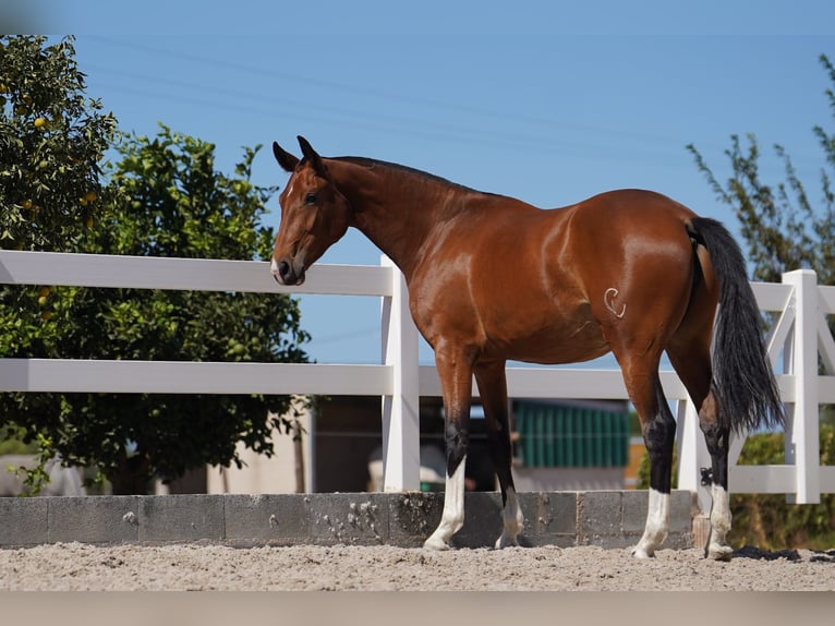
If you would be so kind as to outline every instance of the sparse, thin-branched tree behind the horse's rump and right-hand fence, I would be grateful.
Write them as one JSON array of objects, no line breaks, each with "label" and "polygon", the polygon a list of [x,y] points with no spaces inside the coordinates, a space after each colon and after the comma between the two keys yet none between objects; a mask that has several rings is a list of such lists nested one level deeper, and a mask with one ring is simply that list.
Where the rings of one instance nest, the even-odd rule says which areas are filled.
[{"label": "sparse, thin-branched tree behind the horse's rump and right-hand fence", "polygon": [[[822,55],[821,64],[828,74],[831,87],[825,91],[835,118],[835,68]],[[821,125],[812,132],[824,154],[821,167],[821,195],[810,197],[798,177],[789,155],[780,145],[774,146],[782,161],[785,180],[769,184],[760,176],[760,146],[749,133],[742,142],[731,135],[731,146],[725,151],[731,176],[723,184],[693,144],[687,146],[716,197],[730,206],[741,224],[748,244],[748,257],[754,267],[754,278],[779,282],[784,272],[812,268],[819,282],[835,285],[835,133]]]}]

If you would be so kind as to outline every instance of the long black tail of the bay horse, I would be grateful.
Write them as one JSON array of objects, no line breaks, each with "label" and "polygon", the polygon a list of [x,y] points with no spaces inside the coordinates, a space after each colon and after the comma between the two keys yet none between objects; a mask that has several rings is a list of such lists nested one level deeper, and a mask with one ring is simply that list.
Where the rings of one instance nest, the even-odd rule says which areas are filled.
[{"label": "long black tail of the bay horse", "polygon": [[785,425],[742,252],[715,219],[697,217],[688,230],[707,249],[719,281],[713,347],[713,394],[719,404],[719,424],[737,433]]}]

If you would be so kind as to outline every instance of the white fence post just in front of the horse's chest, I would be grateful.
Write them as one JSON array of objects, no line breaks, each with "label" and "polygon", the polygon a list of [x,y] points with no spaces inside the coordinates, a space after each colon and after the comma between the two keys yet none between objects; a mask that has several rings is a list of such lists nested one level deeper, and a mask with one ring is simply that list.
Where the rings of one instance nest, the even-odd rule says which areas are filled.
[{"label": "white fence post just in front of the horse's chest", "polygon": [[409,291],[400,269],[387,256],[392,293],[383,298],[383,361],[391,368],[392,392],[383,396],[383,490],[420,489],[420,396],[418,329],[409,311]]}]

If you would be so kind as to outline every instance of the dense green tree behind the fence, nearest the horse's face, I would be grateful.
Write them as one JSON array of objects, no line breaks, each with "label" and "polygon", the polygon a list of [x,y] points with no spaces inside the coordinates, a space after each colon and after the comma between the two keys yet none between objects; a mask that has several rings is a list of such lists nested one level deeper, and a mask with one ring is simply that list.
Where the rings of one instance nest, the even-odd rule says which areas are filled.
[{"label": "dense green tree behind the fence, nearest the horse's face", "polygon": [[[268,258],[259,226],[273,188],[250,180],[258,148],[233,176],[214,168],[214,146],[162,127],[129,136],[108,172],[121,202],[92,225],[84,249],[106,254]],[[307,336],[286,294],[56,287],[47,324],[62,328],[40,348],[49,358],[299,362]],[[95,329],[92,330],[92,329]],[[243,442],[271,455],[271,430],[290,433],[287,396],[19,394],[15,414],[64,459],[96,466],[114,493],[144,493],[206,464],[241,465]]]}]

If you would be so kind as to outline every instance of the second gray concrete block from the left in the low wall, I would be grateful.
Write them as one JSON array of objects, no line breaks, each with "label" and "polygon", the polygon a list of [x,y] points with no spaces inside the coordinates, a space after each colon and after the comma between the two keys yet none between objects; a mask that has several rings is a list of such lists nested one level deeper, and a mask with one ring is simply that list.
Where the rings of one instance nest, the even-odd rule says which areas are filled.
[{"label": "second gray concrete block from the left in the low wall", "polygon": [[50,497],[49,541],[123,543],[140,540],[140,496]]}]

